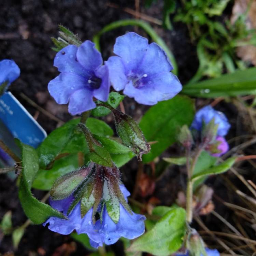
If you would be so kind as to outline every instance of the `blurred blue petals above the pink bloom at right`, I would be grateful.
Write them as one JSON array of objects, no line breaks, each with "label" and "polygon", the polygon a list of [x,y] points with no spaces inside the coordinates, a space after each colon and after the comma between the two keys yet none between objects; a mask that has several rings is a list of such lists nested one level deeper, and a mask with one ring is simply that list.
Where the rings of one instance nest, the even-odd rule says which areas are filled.
[{"label": "blurred blue petals above the pink bloom at right", "polygon": [[230,128],[228,119],[222,112],[214,110],[210,105],[203,107],[196,113],[190,128],[201,131],[203,123],[208,124],[212,118],[214,118],[215,124],[218,124],[217,135],[225,136]]}]

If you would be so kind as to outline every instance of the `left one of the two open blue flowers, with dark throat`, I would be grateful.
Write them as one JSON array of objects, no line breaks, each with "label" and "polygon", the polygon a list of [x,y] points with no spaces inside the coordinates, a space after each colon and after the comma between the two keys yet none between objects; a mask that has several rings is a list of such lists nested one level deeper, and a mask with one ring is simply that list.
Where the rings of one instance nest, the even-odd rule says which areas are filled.
[{"label": "left one of the two open blue flowers, with dark throat", "polygon": [[96,108],[93,100],[108,100],[108,68],[95,44],[85,41],[79,47],[68,45],[56,54],[54,66],[61,72],[49,82],[48,90],[59,104],[67,104],[72,115]]}]

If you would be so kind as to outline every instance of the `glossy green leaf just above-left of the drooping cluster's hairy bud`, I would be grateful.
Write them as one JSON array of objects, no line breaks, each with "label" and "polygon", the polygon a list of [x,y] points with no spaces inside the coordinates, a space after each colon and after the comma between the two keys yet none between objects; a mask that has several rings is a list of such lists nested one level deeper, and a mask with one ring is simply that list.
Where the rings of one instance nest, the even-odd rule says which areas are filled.
[{"label": "glossy green leaf just above-left of the drooping cluster's hairy bud", "polygon": [[68,172],[76,170],[78,167],[77,154],[60,158],[54,161],[54,165],[51,170],[40,169],[38,171],[32,187],[41,190],[50,190],[55,180]]}]

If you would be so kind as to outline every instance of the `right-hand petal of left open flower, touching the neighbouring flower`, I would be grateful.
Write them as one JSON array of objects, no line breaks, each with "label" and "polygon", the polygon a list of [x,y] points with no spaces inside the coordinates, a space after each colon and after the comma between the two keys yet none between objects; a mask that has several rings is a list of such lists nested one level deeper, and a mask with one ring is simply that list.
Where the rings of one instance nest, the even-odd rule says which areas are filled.
[{"label": "right-hand petal of left open flower, touching the neighbouring flower", "polygon": [[100,88],[93,91],[93,96],[101,101],[107,101],[109,98],[110,90],[110,80],[109,80],[109,70],[106,66],[101,66],[96,72],[95,75],[101,78]]}]

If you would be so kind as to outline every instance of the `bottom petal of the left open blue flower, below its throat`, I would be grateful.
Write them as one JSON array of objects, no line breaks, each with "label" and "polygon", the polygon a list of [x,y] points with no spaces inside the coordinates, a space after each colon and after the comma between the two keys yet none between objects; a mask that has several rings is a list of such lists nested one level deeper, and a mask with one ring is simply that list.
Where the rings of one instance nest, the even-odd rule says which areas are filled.
[{"label": "bottom petal of the left open blue flower, below its throat", "polygon": [[96,108],[93,101],[93,90],[84,88],[74,91],[69,99],[69,113],[71,115],[81,114],[84,111]]}]

